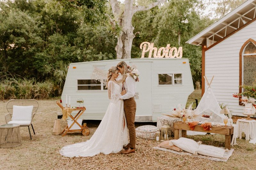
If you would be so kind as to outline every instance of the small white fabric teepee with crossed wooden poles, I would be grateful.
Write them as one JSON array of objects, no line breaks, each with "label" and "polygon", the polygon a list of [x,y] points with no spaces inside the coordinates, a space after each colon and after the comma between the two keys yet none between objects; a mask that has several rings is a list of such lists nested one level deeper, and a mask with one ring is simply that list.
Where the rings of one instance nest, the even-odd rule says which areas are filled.
[{"label": "small white fabric teepee with crossed wooden poles", "polygon": [[[208,119],[207,122],[220,122],[223,123],[223,119],[225,118],[225,115],[220,114],[220,105],[218,101],[216,100],[212,89],[211,89],[211,83],[214,78],[212,77],[211,82],[209,83],[207,78],[204,77],[207,82],[207,87],[205,89],[204,95],[202,99],[200,100],[198,106],[195,109],[196,114],[200,115],[210,115],[212,116],[212,119]],[[199,118],[201,119],[201,118]],[[203,120],[206,121],[206,120]]]}]

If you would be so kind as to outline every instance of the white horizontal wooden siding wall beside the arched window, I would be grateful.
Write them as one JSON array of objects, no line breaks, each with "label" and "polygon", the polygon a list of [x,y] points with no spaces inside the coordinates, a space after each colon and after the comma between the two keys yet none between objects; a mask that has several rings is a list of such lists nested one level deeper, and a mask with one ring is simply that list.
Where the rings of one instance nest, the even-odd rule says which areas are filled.
[{"label": "white horizontal wooden siding wall beside the arched window", "polygon": [[244,106],[238,104],[233,94],[239,92],[239,52],[250,38],[256,40],[256,21],[205,52],[205,76],[209,80],[214,75],[212,91],[233,115],[243,115]]}]

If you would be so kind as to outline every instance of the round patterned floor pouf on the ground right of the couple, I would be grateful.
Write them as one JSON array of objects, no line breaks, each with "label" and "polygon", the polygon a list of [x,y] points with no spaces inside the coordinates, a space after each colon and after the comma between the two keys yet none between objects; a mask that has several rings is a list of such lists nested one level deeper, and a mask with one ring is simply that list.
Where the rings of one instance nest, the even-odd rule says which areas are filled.
[{"label": "round patterned floor pouf on the ground right of the couple", "polygon": [[144,125],[136,128],[136,137],[143,139],[155,139],[157,127],[153,125]]}]

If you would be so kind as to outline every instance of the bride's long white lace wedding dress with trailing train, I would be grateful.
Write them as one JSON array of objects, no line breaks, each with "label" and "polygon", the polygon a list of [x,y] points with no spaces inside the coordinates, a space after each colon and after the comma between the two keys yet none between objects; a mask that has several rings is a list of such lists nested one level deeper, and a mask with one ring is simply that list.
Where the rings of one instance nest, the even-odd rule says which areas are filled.
[{"label": "bride's long white lace wedding dress with trailing train", "polygon": [[91,157],[99,153],[117,153],[123,149],[123,145],[128,144],[124,102],[120,99],[121,91],[122,87],[116,82],[108,82],[110,103],[99,127],[88,141],[61,148],[61,155],[66,157]]}]

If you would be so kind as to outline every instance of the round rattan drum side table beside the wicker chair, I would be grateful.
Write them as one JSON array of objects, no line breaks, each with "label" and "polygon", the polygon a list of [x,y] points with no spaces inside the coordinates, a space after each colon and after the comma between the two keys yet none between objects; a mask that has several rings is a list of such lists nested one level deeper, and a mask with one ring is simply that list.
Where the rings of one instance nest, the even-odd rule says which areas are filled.
[{"label": "round rattan drum side table beside the wicker chair", "polygon": [[4,124],[0,126],[0,148],[12,148],[21,144],[20,125]]}]

